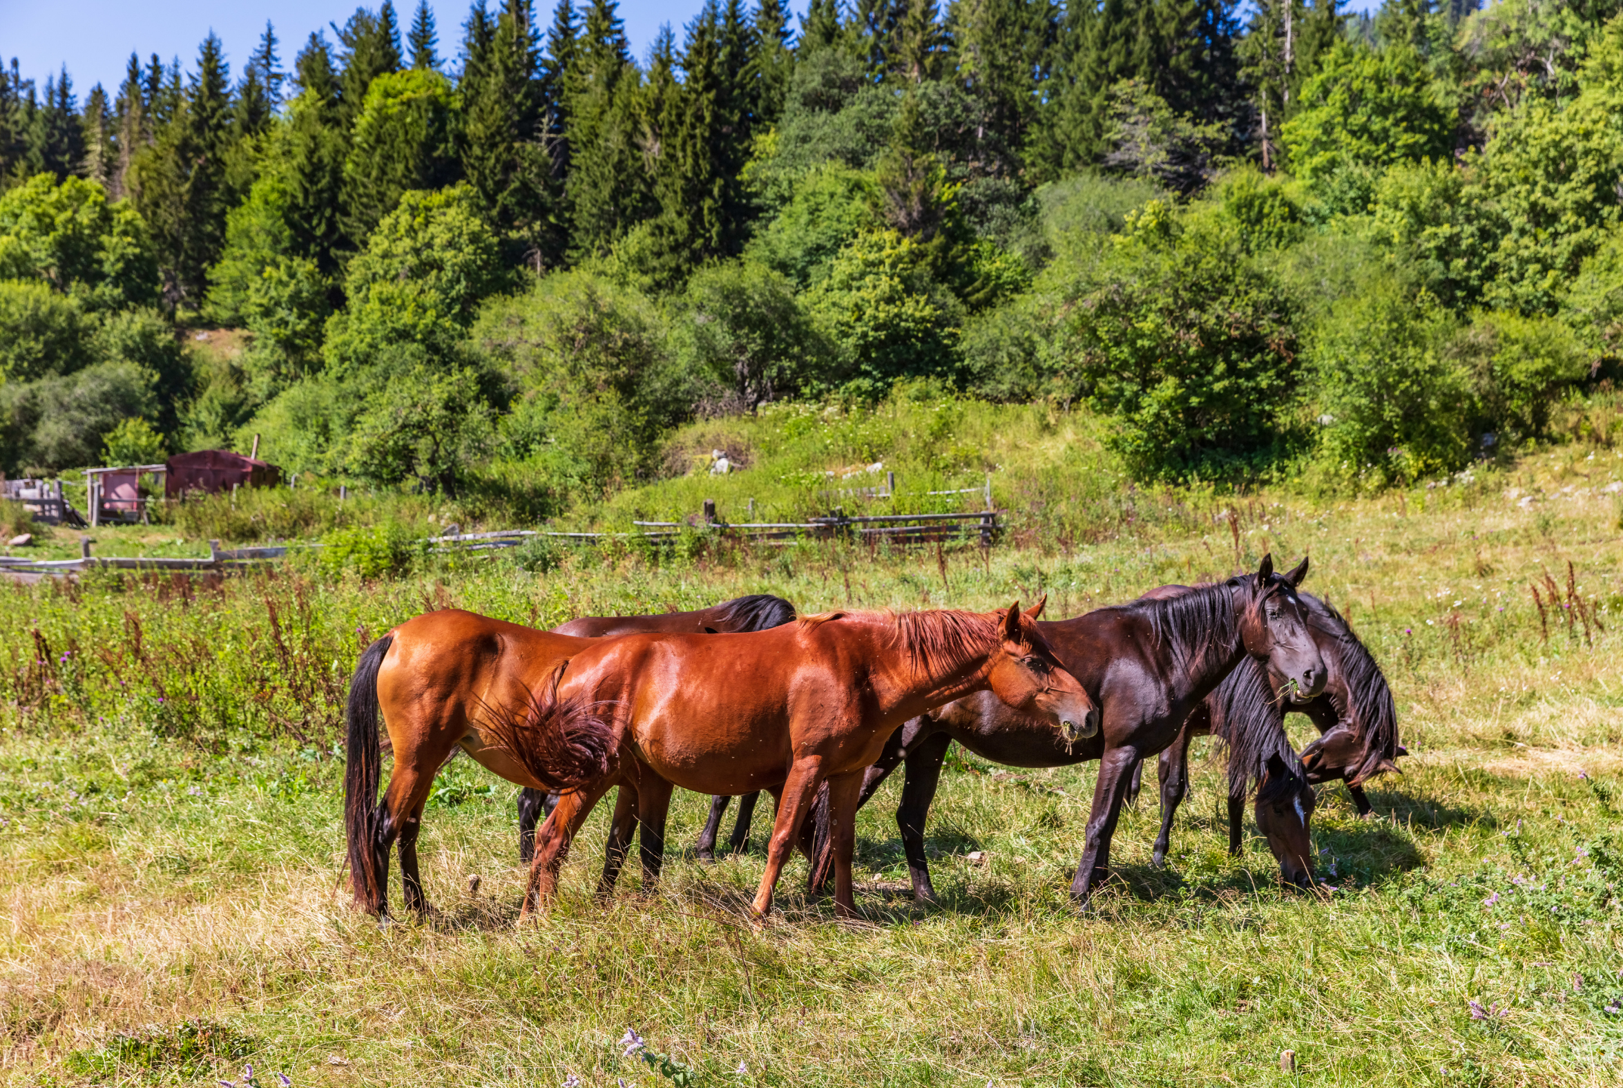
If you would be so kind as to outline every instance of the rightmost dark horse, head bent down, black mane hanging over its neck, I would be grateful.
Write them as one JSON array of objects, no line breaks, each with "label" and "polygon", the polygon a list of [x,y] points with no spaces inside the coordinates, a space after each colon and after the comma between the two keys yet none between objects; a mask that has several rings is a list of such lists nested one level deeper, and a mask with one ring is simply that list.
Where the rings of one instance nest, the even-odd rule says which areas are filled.
[{"label": "rightmost dark horse, head bent down, black mane hanging over its neck", "polygon": [[[1397,706],[1393,703],[1393,690],[1386,685],[1381,666],[1365,648],[1358,637],[1352,633],[1341,612],[1310,593],[1302,594],[1302,602],[1308,609],[1308,633],[1319,648],[1328,669],[1324,692],[1313,698],[1287,698],[1282,705],[1277,700],[1266,700],[1266,706],[1253,708],[1253,713],[1277,716],[1284,727],[1285,711],[1300,711],[1308,716],[1318,731],[1319,739],[1302,749],[1302,768],[1308,783],[1329,783],[1344,779],[1347,792],[1352,794],[1358,815],[1371,812],[1370,799],[1363,792],[1363,783],[1375,775],[1397,771],[1394,762],[1399,755],[1407,755],[1407,749],[1397,744]],[[1264,689],[1266,692],[1266,689]],[[1188,779],[1190,740],[1211,731],[1219,739],[1227,739],[1227,726],[1217,716],[1206,721],[1199,715],[1191,716],[1178,739],[1160,753],[1160,836],[1156,840],[1156,862],[1167,854],[1167,843],[1172,835],[1172,818],[1183,801]],[[1242,758],[1242,765],[1245,760]],[[1235,849],[1240,838],[1240,812],[1235,807],[1235,753],[1230,750],[1229,760],[1229,844]],[[1243,783],[1240,786],[1243,796]]]}]

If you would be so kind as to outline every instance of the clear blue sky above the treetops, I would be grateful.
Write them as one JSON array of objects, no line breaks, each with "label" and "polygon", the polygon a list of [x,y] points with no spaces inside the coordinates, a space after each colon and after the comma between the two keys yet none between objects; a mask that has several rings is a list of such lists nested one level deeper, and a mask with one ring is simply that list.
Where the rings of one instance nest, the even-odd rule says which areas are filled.
[{"label": "clear blue sky above the treetops", "polygon": [[[693,18],[701,0],[620,0],[631,49],[641,58],[654,41],[661,23],[677,28]],[[381,0],[370,0],[375,8]],[[440,24],[440,55],[451,57],[461,41],[461,23],[467,18],[464,0],[430,0]],[[396,0],[401,21],[409,23],[417,0]],[[490,6],[500,6],[493,2]],[[552,2],[537,0],[537,8],[552,18]],[[795,13],[805,11],[805,0],[794,0]],[[1349,11],[1376,6],[1373,0],[1352,0]],[[0,0],[0,57],[10,63],[18,58],[23,73],[44,83],[45,73],[62,65],[68,67],[73,86],[83,96],[96,83],[109,93],[117,91],[123,78],[130,50],[141,57],[157,54],[167,63],[180,57],[190,68],[198,42],[213,29],[226,42],[226,57],[232,71],[260,41],[265,21],[276,24],[282,41],[282,63],[292,65],[294,54],[310,31],[326,29],[329,21],[342,21],[354,11],[347,0],[162,0],[161,3],[131,3],[130,0],[68,0],[58,8],[50,0]],[[328,31],[328,41],[333,39]]]}]

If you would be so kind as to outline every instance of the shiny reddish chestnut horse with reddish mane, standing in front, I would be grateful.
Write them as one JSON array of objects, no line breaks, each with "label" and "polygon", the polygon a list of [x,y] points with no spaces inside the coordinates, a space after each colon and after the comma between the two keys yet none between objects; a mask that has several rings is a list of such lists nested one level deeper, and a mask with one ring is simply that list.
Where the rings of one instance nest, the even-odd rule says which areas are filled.
[{"label": "shiny reddish chestnut horse with reddish mane, standing in front", "polygon": [[[586,814],[622,783],[610,822],[623,856],[633,815],[661,831],[670,789],[747,794],[771,789],[777,815],[755,913],[773,890],[818,788],[831,799],[834,906],[855,911],[850,854],[863,770],[909,718],[990,690],[1073,739],[1099,731],[1087,693],[1055,659],[1034,617],[1008,612],[829,612],[750,635],[626,635],[575,654],[560,698],[612,705],[618,731],[610,773],[565,792],[536,838],[526,911],[552,895],[558,866]],[[1055,729],[1053,726],[1058,726]],[[529,723],[497,724],[521,760]],[[1055,740],[1057,742],[1057,740]],[[544,770],[537,766],[536,771]],[[610,853],[613,857],[615,853]],[[612,887],[617,867],[604,872]]]}]

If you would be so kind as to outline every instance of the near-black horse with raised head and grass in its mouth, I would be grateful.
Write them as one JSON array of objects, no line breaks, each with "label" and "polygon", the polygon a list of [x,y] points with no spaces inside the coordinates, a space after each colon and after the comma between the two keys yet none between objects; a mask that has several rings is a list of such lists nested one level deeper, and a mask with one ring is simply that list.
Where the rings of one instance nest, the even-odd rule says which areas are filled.
[{"label": "near-black horse with raised head and grass in its mouth", "polygon": [[[1139,599],[1104,607],[1078,619],[1039,624],[1065,667],[1099,705],[1104,729],[1083,744],[1066,744],[1027,716],[972,695],[909,721],[885,762],[868,770],[859,804],[873,796],[896,763],[906,760],[902,802],[896,810],[902,848],[912,874],[914,898],[935,900],[923,853],[923,825],[941,775],[948,745],[966,749],[995,763],[1013,766],[1070,766],[1099,760],[1099,781],[1081,864],[1071,882],[1071,898],[1084,909],[1096,883],[1109,874],[1110,836],[1133,765],[1167,747],[1190,713],[1242,661],[1266,666],[1281,687],[1295,685],[1318,695],[1324,663],[1307,632],[1307,614],[1297,585],[1308,562],[1276,575],[1271,557],[1255,576],[1225,585],[1199,586],[1170,599]],[[1279,828],[1287,835],[1289,828]],[[818,841],[823,841],[821,827]],[[1311,880],[1308,844],[1271,844],[1294,857]],[[818,849],[818,857],[824,853]],[[826,861],[820,870],[826,869]]]}]

